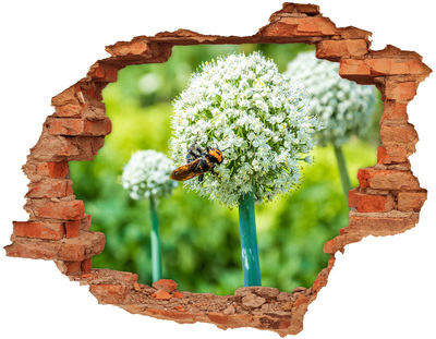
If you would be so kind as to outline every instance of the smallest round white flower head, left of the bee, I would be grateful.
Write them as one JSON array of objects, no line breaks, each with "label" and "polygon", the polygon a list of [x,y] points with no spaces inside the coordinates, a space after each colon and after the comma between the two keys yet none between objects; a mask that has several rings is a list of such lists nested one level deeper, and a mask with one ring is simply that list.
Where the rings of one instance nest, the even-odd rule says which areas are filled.
[{"label": "smallest round white flower head, left of the bee", "polygon": [[177,182],[169,179],[174,166],[167,156],[154,149],[132,155],[121,175],[121,183],[134,199],[168,196]]}]

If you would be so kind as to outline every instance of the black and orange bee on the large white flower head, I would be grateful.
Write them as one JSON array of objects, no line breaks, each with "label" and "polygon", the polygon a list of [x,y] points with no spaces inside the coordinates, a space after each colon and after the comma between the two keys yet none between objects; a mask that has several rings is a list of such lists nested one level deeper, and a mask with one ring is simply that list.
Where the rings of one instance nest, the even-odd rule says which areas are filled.
[{"label": "black and orange bee on the large white flower head", "polygon": [[204,173],[210,172],[216,174],[214,168],[216,165],[220,165],[222,162],[222,159],[225,158],[222,152],[218,148],[209,147],[206,147],[206,150],[204,150],[202,147],[196,145],[197,138],[198,133],[194,143],[192,143],[190,148],[187,148],[187,164],[174,169],[170,174],[171,180],[186,181],[198,177],[198,182],[202,182],[204,179]]}]

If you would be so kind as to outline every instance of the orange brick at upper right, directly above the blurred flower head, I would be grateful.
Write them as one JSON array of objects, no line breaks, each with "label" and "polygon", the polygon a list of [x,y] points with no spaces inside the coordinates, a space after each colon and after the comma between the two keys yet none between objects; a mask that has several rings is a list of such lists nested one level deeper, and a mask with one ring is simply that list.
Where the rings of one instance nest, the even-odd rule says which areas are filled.
[{"label": "orange brick at upper right, directly above the blurred flower head", "polygon": [[367,44],[363,39],[358,40],[322,40],[316,46],[316,57],[330,61],[339,61],[341,58],[363,58],[367,53]]}]

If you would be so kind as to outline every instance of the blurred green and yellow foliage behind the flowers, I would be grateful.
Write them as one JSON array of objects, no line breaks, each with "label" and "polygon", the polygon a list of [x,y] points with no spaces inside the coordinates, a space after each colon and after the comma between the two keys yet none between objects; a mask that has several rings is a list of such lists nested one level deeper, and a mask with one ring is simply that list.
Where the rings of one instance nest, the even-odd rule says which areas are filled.
[{"label": "blurred green and yellow foliage behind the flowers", "polygon": [[[312,49],[300,44],[180,46],[164,64],[121,70],[118,82],[104,90],[113,126],[105,147],[94,161],[70,162],[74,194],[93,216],[92,230],[106,233],[105,251],[93,257],[93,266],[136,273],[140,282],[152,284],[148,201],[130,198],[119,177],[136,150],[168,154],[171,101],[203,61],[262,50],[283,72],[296,53]],[[343,147],[354,186],[358,169],[376,162],[379,110],[380,105],[368,134]],[[329,258],[323,253],[324,243],[348,226],[334,149],[317,147],[313,156],[315,164],[304,168],[298,192],[256,207],[263,286],[288,292],[312,286]],[[179,185],[160,202],[158,213],[164,278],[175,280],[179,290],[202,293],[233,293],[243,286],[237,209],[213,204]]]}]

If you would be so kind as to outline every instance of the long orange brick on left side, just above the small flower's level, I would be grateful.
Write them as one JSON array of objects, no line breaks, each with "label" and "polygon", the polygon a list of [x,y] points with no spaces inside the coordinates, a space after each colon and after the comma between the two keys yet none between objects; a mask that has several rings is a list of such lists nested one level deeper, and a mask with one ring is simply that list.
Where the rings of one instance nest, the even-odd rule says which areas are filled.
[{"label": "long orange brick on left side, just above the small flower's level", "polygon": [[109,119],[90,121],[87,119],[56,118],[46,122],[47,133],[52,135],[104,136],[112,131]]}]

